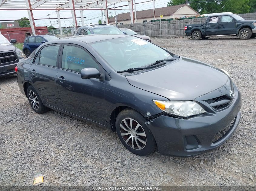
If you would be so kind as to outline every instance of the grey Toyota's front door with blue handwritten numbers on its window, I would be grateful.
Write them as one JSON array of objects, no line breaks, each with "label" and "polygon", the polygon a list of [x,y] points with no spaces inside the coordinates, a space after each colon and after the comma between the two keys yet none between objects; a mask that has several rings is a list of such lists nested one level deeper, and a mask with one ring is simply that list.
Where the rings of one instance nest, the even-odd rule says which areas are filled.
[{"label": "grey Toyota's front door with blue handwritten numbers on its window", "polygon": [[105,124],[106,110],[104,81],[98,78],[82,79],[83,68],[101,67],[81,46],[65,44],[60,56],[57,86],[64,110]]}]

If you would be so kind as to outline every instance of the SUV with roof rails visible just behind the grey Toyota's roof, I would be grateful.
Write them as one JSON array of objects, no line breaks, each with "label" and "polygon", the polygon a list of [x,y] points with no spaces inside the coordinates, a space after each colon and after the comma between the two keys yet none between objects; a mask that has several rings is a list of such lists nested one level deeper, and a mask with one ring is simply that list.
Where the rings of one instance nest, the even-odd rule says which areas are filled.
[{"label": "SUV with roof rails visible just behind the grey Toyota's roof", "polygon": [[[85,34],[124,34],[117,27],[111,24],[90,24],[81,26],[75,31],[74,36]],[[126,34],[126,33],[125,33]]]}]

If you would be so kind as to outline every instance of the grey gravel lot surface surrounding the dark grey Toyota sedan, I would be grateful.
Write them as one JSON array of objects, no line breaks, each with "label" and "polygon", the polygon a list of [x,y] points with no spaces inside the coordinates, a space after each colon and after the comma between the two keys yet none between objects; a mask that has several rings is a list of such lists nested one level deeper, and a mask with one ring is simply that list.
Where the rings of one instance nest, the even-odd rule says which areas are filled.
[{"label": "grey gravel lot surface surrounding the dark grey Toyota sedan", "polygon": [[[152,39],[229,72],[241,90],[241,122],[220,148],[191,158],[130,153],[116,133],[50,110],[38,115],[16,76],[0,78],[0,185],[255,185],[256,39]],[[200,78],[200,76],[198,76]],[[178,80],[178,79],[177,79]]]}]

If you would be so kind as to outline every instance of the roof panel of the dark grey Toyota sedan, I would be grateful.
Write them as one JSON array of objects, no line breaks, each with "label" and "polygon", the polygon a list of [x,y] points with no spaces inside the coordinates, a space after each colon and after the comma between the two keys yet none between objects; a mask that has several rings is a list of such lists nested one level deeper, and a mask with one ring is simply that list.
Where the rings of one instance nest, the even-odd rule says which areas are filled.
[{"label": "roof panel of the dark grey Toyota sedan", "polygon": [[82,41],[84,43],[93,43],[101,40],[108,40],[108,39],[121,38],[121,37],[131,37],[131,36],[125,35],[125,34],[89,34],[89,35],[80,35],[80,36],[62,38],[59,40],[53,40],[47,44],[72,43],[72,42],[75,43],[75,41],[77,40]]}]

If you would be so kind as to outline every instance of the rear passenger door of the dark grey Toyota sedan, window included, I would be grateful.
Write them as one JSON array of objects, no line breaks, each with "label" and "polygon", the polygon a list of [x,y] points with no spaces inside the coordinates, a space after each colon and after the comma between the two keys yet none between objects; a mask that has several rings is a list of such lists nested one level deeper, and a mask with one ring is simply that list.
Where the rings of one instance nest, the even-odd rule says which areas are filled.
[{"label": "rear passenger door of the dark grey Toyota sedan, window included", "polygon": [[34,88],[48,105],[63,110],[56,75],[58,72],[60,44],[51,44],[40,49],[30,67]]}]

